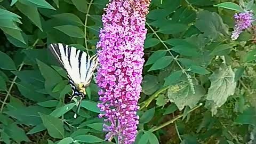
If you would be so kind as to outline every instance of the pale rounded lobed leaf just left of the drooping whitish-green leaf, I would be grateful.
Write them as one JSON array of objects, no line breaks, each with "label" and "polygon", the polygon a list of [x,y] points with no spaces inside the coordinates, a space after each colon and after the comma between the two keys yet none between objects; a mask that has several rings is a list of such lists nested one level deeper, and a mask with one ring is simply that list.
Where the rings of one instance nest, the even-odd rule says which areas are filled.
[{"label": "pale rounded lobed leaf just left of the drooping whitish-green leaf", "polygon": [[191,90],[191,86],[185,82],[171,85],[167,91],[167,96],[171,102],[182,110],[185,106],[193,108],[197,102],[204,96],[204,88],[201,85],[195,85],[195,94]]}]

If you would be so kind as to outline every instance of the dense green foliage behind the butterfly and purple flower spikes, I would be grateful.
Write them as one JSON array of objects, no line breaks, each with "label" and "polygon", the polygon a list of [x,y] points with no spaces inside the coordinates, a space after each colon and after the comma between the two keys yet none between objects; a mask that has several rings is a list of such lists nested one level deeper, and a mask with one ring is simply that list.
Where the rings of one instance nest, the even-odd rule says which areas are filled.
[{"label": "dense green foliage behind the butterfly and purple flower spikes", "polygon": [[[46,49],[94,54],[107,3],[0,0],[0,143],[115,143],[104,141],[95,79],[73,118],[66,72]],[[135,143],[256,142],[255,28],[230,40],[245,8],[256,12],[254,1],[151,1]]]}]

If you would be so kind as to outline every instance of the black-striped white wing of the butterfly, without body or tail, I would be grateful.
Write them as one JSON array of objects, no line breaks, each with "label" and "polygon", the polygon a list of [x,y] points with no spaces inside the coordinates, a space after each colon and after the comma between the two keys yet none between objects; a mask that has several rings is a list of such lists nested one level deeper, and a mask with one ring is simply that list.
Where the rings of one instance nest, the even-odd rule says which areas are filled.
[{"label": "black-striped white wing of the butterfly, without body or tail", "polygon": [[66,69],[69,78],[76,84],[89,85],[93,71],[98,65],[97,55],[87,53],[66,44],[51,44],[50,50]]}]

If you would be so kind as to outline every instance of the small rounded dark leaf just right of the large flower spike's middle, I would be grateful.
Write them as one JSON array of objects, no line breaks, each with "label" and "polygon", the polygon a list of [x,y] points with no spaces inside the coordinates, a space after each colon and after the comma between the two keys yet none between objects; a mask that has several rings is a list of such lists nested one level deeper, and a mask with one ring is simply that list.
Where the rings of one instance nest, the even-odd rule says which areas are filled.
[{"label": "small rounded dark leaf just right of the large flower spike's middle", "polygon": [[153,75],[145,75],[143,77],[143,81],[142,81],[142,92],[145,94],[153,94],[154,92],[156,92],[160,85],[158,84],[158,79],[156,76]]}]

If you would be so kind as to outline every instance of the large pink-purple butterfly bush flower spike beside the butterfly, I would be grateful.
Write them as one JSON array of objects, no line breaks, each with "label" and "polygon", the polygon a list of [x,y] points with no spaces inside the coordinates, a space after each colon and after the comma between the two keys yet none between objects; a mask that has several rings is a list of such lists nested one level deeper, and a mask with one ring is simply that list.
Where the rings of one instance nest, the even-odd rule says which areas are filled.
[{"label": "large pink-purple butterfly bush flower spike beside the butterfly", "polygon": [[119,144],[133,143],[139,117],[143,43],[150,0],[110,0],[102,15],[103,29],[97,44],[99,69],[97,83],[105,118],[106,138]]}]

